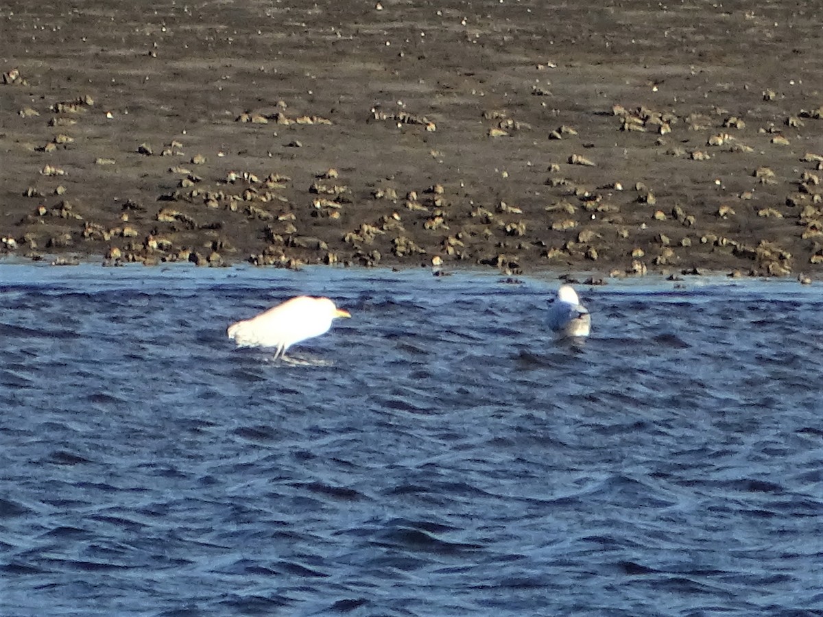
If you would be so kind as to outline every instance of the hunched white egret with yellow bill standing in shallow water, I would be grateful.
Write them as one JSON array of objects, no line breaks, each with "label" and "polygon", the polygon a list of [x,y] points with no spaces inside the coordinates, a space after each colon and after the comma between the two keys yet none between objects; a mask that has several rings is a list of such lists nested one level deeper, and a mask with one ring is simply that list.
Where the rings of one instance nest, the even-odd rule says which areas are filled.
[{"label": "hunched white egret with yellow bill standing in shallow water", "polygon": [[325,334],[332,327],[332,319],[340,317],[351,315],[328,298],[301,295],[256,317],[232,323],[227,332],[238,347],[273,347],[277,350],[275,358],[285,357],[289,347]]}]

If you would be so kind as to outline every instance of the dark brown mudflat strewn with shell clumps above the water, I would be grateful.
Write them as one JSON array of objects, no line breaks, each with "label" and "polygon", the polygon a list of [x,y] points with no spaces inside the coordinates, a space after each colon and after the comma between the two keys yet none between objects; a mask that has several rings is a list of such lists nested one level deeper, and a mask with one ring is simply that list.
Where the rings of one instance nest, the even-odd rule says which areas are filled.
[{"label": "dark brown mudflat strewn with shell clumps above the water", "polygon": [[814,7],[584,5],[6,2],[0,252],[820,276]]}]

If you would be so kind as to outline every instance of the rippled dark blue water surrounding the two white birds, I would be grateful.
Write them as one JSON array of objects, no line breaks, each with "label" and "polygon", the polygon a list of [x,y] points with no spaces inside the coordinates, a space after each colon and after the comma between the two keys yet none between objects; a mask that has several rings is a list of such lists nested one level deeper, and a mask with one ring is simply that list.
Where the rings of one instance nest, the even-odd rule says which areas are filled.
[{"label": "rippled dark blue water surrounding the two white birds", "polygon": [[681,285],[0,267],[0,614],[821,615],[821,288]]}]

